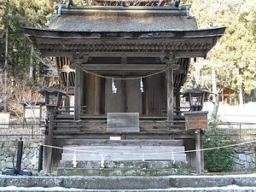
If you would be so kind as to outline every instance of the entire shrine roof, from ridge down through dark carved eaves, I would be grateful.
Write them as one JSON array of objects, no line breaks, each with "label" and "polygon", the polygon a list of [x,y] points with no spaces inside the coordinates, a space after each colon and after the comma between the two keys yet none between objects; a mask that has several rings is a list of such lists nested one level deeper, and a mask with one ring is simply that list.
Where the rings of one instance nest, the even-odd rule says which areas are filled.
[{"label": "entire shrine roof, from ridge down through dark carved eaves", "polygon": [[[49,28],[25,27],[24,31],[43,55],[67,56],[73,63],[84,64],[87,71],[152,73],[166,69],[169,59],[176,57],[174,87],[180,88],[188,73],[189,58],[206,57],[224,35],[225,27],[198,29],[195,18],[189,17],[189,6],[62,5]],[[102,63],[107,57],[115,61]],[[152,63],[142,63],[138,58]]]}]

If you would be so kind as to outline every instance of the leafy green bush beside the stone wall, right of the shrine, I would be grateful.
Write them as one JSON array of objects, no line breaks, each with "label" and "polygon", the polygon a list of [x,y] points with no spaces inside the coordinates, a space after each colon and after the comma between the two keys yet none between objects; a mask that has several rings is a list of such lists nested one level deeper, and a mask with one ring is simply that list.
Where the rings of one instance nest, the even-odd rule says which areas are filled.
[{"label": "leafy green bush beside the stone wall, right of the shrine", "polygon": [[203,137],[204,148],[217,148],[204,151],[205,169],[208,172],[230,172],[234,169],[233,148],[221,148],[230,144],[230,137],[218,129],[215,120],[209,123],[209,130]]}]

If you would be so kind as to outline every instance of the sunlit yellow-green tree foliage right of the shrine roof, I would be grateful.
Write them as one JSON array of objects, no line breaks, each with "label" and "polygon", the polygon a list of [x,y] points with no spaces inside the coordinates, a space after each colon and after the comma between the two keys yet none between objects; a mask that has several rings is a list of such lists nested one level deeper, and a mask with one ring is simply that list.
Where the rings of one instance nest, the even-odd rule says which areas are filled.
[{"label": "sunlit yellow-green tree foliage right of the shrine roof", "polygon": [[200,28],[226,26],[224,37],[209,52],[207,60],[196,63],[200,73],[192,71],[192,76],[201,80],[201,86],[207,86],[212,84],[214,69],[220,84],[241,89],[244,98],[248,98],[256,77],[256,2],[192,0],[191,3],[191,15]]}]

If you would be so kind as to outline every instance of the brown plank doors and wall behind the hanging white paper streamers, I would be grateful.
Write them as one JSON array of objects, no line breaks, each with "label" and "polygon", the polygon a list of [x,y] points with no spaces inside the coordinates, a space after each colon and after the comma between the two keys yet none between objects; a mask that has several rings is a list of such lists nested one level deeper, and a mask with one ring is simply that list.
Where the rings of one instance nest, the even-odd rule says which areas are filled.
[{"label": "brown plank doors and wall behind the hanging white paper streamers", "polygon": [[112,79],[103,79],[85,74],[84,104],[86,115],[106,113],[140,113],[160,116],[166,107],[165,73],[143,79],[144,92],[140,90],[140,79],[131,76],[113,76],[117,93],[112,93]]}]

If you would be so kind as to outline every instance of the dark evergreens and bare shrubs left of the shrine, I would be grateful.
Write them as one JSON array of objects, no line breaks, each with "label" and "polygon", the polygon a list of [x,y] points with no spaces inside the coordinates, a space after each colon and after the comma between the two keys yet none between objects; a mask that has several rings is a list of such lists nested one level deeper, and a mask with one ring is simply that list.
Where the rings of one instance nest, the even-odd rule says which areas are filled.
[{"label": "dark evergreens and bare shrubs left of the shrine", "polygon": [[[40,72],[44,64],[32,57],[32,44],[25,37],[22,27],[49,26],[49,18],[55,13],[56,3],[58,3],[56,0],[0,1],[0,108],[5,101],[9,112],[16,113],[18,116],[19,101],[36,99],[33,93],[43,84],[48,85],[45,84]],[[6,39],[8,46],[6,46]],[[5,60],[6,47],[8,48],[7,60]],[[5,61],[7,61],[7,70],[3,71]],[[34,79],[28,78],[30,67],[33,74],[36,74]],[[3,72],[6,73],[7,78],[3,78],[5,77]]]}]

